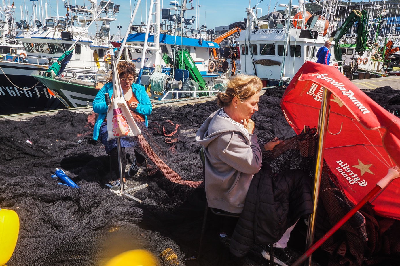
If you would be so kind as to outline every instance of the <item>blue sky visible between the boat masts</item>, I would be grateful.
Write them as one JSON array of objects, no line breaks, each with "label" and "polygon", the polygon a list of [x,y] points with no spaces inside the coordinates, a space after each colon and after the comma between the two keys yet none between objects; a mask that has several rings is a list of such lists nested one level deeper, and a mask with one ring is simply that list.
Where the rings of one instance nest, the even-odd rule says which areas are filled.
[{"label": "blue sky visible between the boat masts", "polygon": [[[6,2],[12,2],[13,0],[6,0]],[[65,13],[64,9],[64,2],[62,0],[57,0],[58,1],[58,10],[60,14]],[[68,0],[67,0],[68,1]],[[78,5],[89,5],[90,2],[88,0],[70,0],[72,2],[72,5],[78,4]],[[128,24],[130,22],[130,16],[132,15],[132,12],[134,10],[134,4],[136,3],[135,0],[112,0],[115,4],[120,4],[120,12],[117,15],[117,20],[115,22],[111,23],[111,34],[116,34],[118,32],[118,24],[122,26],[121,32],[122,35],[126,32],[126,29],[128,27]],[[182,3],[182,0],[178,0],[179,4]],[[38,8],[40,6],[44,6],[41,3],[44,3],[45,0],[39,0],[37,3]],[[51,16],[56,15],[56,6],[57,2],[56,0],[47,0],[48,2],[48,13],[50,13]],[[170,0],[162,0],[164,8],[170,7],[169,3]],[[189,0],[188,0],[189,2]],[[260,16],[260,13],[262,15],[266,15],[268,13],[268,8],[270,11],[274,9],[274,6],[276,5],[277,10],[282,10],[284,8],[279,7],[279,3],[285,3],[287,4],[288,1],[285,0],[258,0],[258,2],[261,2],[259,4],[259,8],[262,8],[262,10],[258,10],[258,16]],[[297,4],[297,0],[295,0],[293,4]],[[7,3],[6,3],[7,4]],[[256,0],[192,0],[191,3],[187,4],[187,7],[190,8],[190,6],[194,7],[194,10],[188,10],[186,11],[185,17],[192,17],[196,16],[196,22],[195,25],[199,24],[201,25],[207,25],[207,29],[213,29],[216,26],[226,26],[229,24],[232,24],[233,22],[236,21],[242,21],[243,18],[246,17],[246,8],[249,7],[249,4],[251,7],[256,5]],[[29,0],[14,0],[14,5],[16,6],[16,18],[17,21],[20,20],[20,6],[23,5],[26,9],[28,9],[30,12],[32,10],[32,4]],[[146,21],[146,5],[147,9],[149,8],[150,5],[150,0],[142,0],[141,1],[141,8],[138,10],[138,13],[136,14],[136,18],[134,20],[134,24],[140,24],[140,22],[145,22]],[[132,7],[131,7],[132,6]],[[199,7],[200,6],[200,7]],[[141,11],[141,12],[140,12]],[[26,14],[25,14],[25,19],[26,19]],[[194,25],[194,26],[195,26]],[[195,27],[194,27],[195,28]],[[92,32],[92,30],[90,30]]]}]

